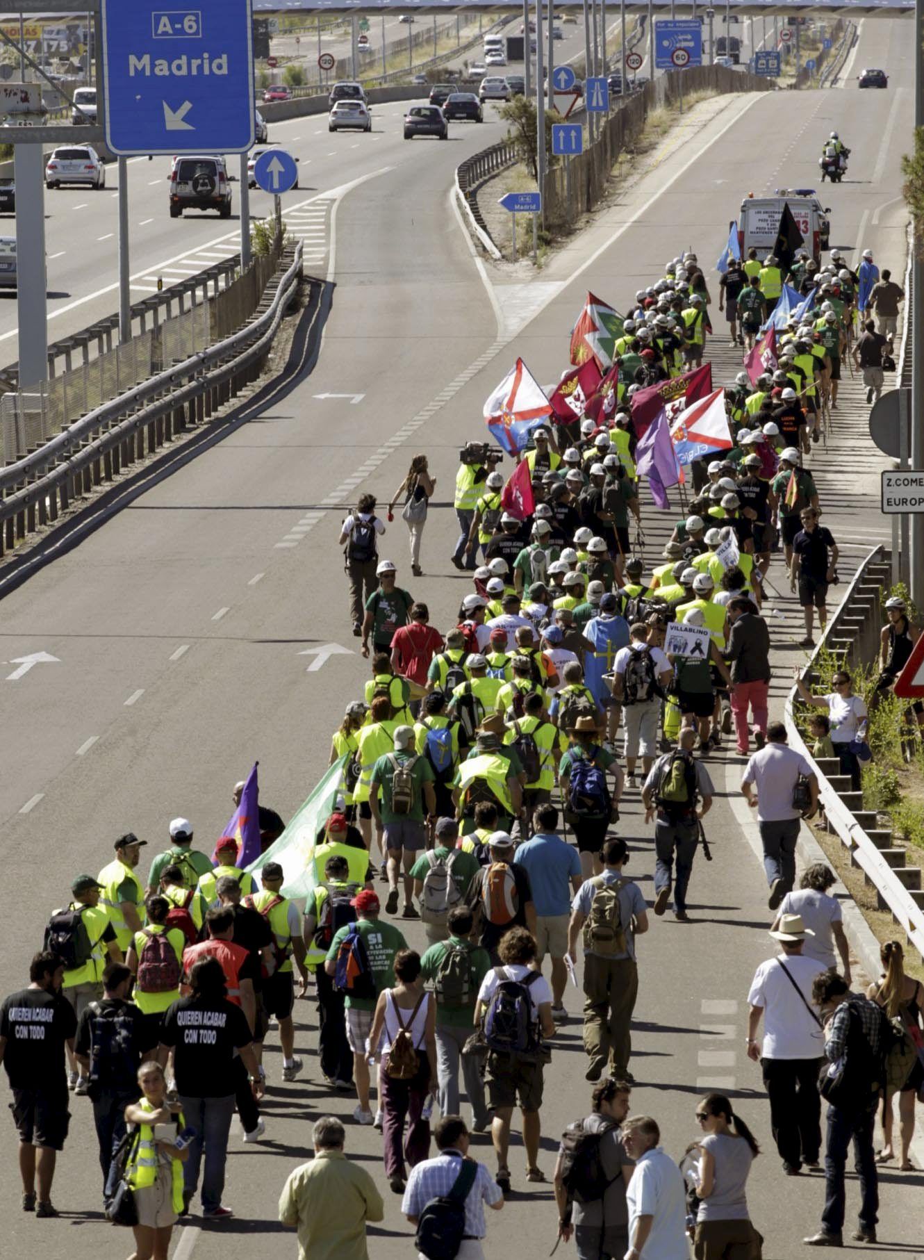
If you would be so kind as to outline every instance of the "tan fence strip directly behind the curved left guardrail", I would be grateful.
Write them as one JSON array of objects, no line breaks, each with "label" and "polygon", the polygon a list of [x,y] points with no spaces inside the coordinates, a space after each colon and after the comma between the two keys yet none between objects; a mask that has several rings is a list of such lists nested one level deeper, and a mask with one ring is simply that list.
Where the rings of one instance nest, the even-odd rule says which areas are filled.
[{"label": "tan fence strip directly behind the curved left guardrail", "polygon": [[113,344],[118,315],[57,341],[49,348],[48,381],[0,396],[0,465],[21,459],[108,398],[240,328],[259,305],[279,248],[277,243],[244,272],[234,255],[137,302],[127,341]]}]

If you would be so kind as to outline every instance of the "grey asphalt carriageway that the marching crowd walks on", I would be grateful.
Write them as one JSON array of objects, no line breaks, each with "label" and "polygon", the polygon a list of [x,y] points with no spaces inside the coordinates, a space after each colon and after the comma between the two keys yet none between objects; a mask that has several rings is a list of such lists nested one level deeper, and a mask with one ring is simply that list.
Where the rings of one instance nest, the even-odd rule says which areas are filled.
[{"label": "grey asphalt carriageway that the marching crowd walks on", "polygon": [[[847,179],[825,199],[832,207],[832,244],[854,258],[871,246],[880,266],[901,272],[899,158],[910,134],[910,29],[901,21],[864,24],[859,64],[886,66],[887,92],[787,92],[729,102],[551,261],[535,285],[522,271],[491,272],[490,292],[482,282],[449,198],[456,146],[425,154],[409,146],[405,161],[383,156],[380,166],[366,169],[370,178],[330,210],[327,266],[336,287],[313,373],[3,602],[0,656],[58,658],[15,682],[0,679],[8,732],[0,818],[8,887],[18,893],[5,906],[3,992],[23,983],[42,924],[73,873],[108,861],[115,835],[132,829],[152,854],[169,819],[184,814],[206,847],[227,822],[233,782],[256,759],[264,804],[291,816],[326,765],[330,732],[368,673],[358,655],[306,673],[300,655],[327,643],[356,646],[336,549],[349,504],[360,486],[386,501],[410,455],[428,452],[438,478],[423,543],[428,576],[409,581],[400,520],[381,551],[400,564],[402,585],[428,601],[433,622],[449,625],[468,590],[446,559],[456,533],[449,504],[458,446],[483,431],[482,402],[516,354],[543,381],[564,368],[568,333],[588,289],[618,306],[687,246],[711,276],[707,260],[721,249],[740,197],[813,184],[816,155],[832,127],[854,150]],[[381,152],[384,146],[376,160]],[[715,309],[714,319],[718,324]],[[734,363],[720,346],[715,360],[719,383]],[[322,393],[361,398],[318,399]],[[835,441],[827,452],[813,451],[811,466],[820,472],[826,524],[859,558],[887,530],[857,387],[846,386],[845,393],[851,406]],[[646,504],[650,561],[672,519],[656,518]],[[779,585],[778,563],[770,580]],[[792,601],[774,607],[778,697],[789,664],[799,659],[799,635]],[[720,1080],[718,1087],[731,1091],[764,1147],[749,1198],[765,1255],[792,1260],[802,1236],[817,1227],[822,1187],[817,1178],[784,1181],[759,1074],[744,1057],[747,988],[769,953],[767,892],[752,852],[753,827],[741,825],[726,799],[736,791],[738,765],[723,752],[710,769],[720,796],[710,815],[715,861],[707,869],[700,861],[694,871],[695,922],[656,920],[639,942],[633,1110],[658,1118],[666,1148],[679,1157],[695,1137],[696,1096]],[[651,833],[637,796],[627,800],[621,830],[633,850],[629,869],[650,897]],[[412,926],[408,936],[419,944],[422,932]],[[578,994],[569,990],[565,1002],[577,1016]],[[300,1017],[298,1048],[308,1051],[302,1081],[278,1084],[278,1050],[271,1047],[267,1140],[251,1148],[232,1142],[227,1202],[235,1220],[203,1230],[194,1221],[179,1235],[180,1260],[249,1254],[257,1236],[266,1260],[295,1252],[293,1239],[273,1223],[278,1189],[293,1163],[307,1157],[308,1121],[321,1111],[349,1116],[352,1109],[351,1100],[331,1100],[318,1089],[313,1007],[300,1007]],[[579,1026],[569,1024],[546,1076],[540,1163],[548,1176],[558,1135],[587,1110],[583,1066]],[[55,1182],[64,1213],[58,1222],[19,1212],[15,1138],[9,1123],[0,1128],[6,1169],[0,1217],[13,1254],[35,1249],[38,1235],[42,1255],[74,1260],[128,1247],[123,1237],[113,1245],[98,1218],[87,1218],[97,1208],[92,1124],[83,1100],[73,1109]],[[349,1153],[380,1177],[378,1134],[350,1125],[347,1142]],[[520,1252],[539,1254],[554,1242],[550,1187],[525,1186],[517,1148],[511,1168],[517,1193],[490,1222],[488,1256],[510,1255],[517,1244]],[[881,1182],[876,1252],[911,1256],[920,1250],[924,1177],[885,1172]],[[851,1179],[848,1218],[855,1206]],[[230,1244],[219,1236],[225,1234]],[[412,1254],[407,1225],[388,1196],[370,1255]]]}]

